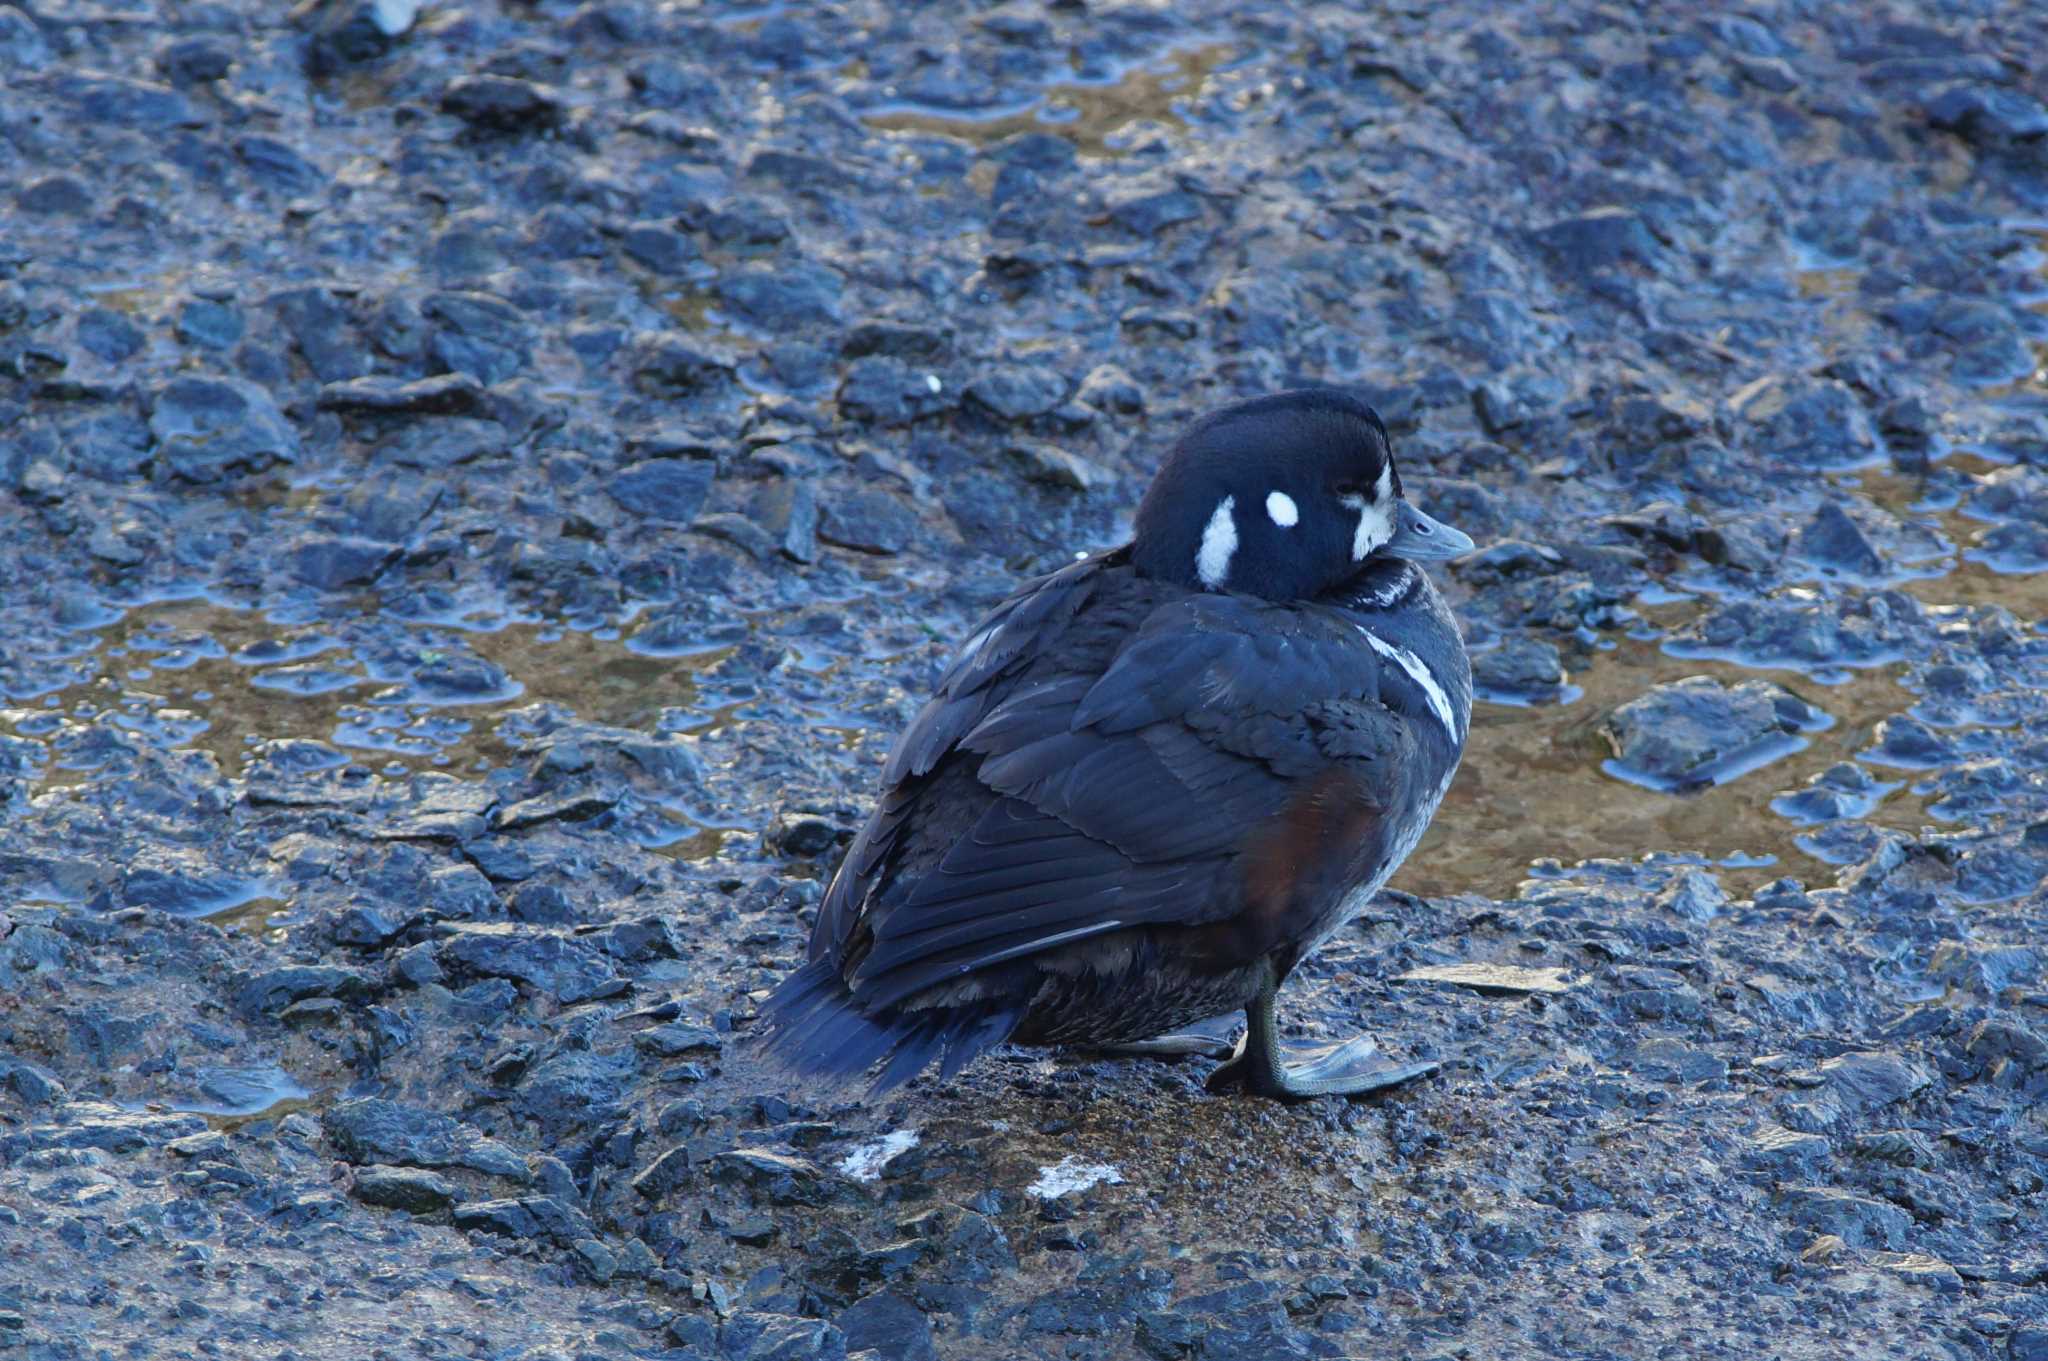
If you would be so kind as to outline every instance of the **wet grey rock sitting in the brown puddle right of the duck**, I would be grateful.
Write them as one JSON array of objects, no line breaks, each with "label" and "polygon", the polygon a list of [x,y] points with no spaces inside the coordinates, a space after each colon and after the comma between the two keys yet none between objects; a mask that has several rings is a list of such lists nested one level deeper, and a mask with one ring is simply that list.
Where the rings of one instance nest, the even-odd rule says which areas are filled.
[{"label": "wet grey rock sitting in the brown puddle right of the duck", "polygon": [[1602,733],[1610,770],[1663,790],[1696,790],[1786,749],[1817,712],[1769,682],[1724,686],[1708,675],[1657,686],[1614,710]]}]

